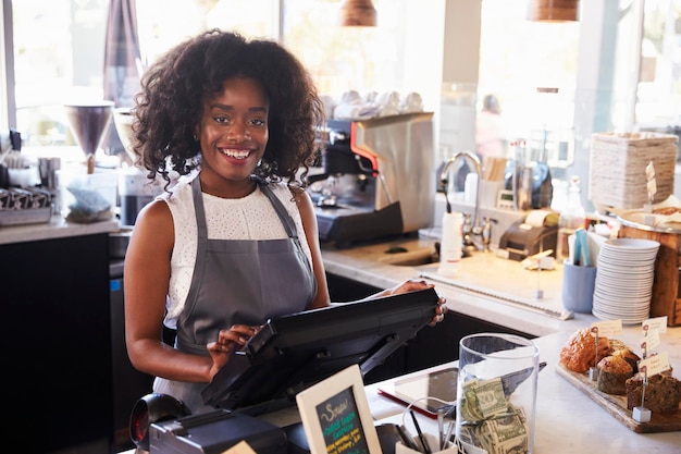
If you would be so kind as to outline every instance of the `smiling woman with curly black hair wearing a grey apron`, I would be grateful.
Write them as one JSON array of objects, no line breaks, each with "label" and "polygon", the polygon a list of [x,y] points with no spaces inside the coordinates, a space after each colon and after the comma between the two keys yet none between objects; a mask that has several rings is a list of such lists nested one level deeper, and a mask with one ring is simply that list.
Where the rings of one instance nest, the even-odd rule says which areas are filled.
[{"label": "smiling woman with curly black hair wearing a grey apron", "polygon": [[[218,30],[150,66],[136,102],[134,149],[168,191],[139,213],[126,254],[128,355],[157,377],[154,392],[205,412],[201,390],[268,318],[330,304],[297,177],[315,157],[323,107],[284,48]],[[177,330],[174,347],[163,323]]]}]

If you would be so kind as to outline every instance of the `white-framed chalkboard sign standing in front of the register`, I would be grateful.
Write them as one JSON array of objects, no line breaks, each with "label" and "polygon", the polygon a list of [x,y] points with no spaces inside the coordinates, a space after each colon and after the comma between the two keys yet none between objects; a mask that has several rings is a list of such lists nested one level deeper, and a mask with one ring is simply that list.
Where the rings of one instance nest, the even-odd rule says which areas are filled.
[{"label": "white-framed chalkboard sign standing in front of the register", "polygon": [[311,454],[381,454],[357,365],[296,396]]}]

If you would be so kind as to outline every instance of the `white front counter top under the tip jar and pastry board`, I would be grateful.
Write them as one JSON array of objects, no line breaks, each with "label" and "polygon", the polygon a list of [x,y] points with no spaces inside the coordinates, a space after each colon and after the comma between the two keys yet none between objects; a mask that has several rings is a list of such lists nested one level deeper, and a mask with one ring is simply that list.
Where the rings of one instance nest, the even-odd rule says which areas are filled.
[{"label": "white front counter top under the tip jar and pastry board", "polygon": [[[681,432],[635,433],[609,415],[598,404],[586,397],[580,390],[556,372],[560,347],[569,333],[557,332],[537,338],[541,360],[547,363],[538,375],[534,452],[554,454],[583,453],[657,453],[678,454],[681,446]],[[672,366],[681,367],[681,329],[668,330],[661,335],[670,355]],[[635,342],[636,334],[626,330],[620,338],[624,342]],[[442,365],[426,370],[436,370],[450,365]],[[423,373],[423,371],[411,375]],[[367,397],[376,424],[403,424],[404,406],[377,394],[379,389],[389,392],[392,380],[367,386]],[[377,413],[380,412],[380,414]],[[409,419],[406,426],[413,432]],[[436,421],[419,415],[419,425],[424,432],[437,433]]]}]

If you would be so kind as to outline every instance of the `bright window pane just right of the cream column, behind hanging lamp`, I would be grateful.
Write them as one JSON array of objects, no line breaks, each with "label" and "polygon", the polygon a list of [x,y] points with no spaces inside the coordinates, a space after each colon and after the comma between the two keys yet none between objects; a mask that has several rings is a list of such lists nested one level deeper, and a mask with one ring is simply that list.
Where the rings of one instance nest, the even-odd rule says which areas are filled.
[{"label": "bright window pane just right of the cream column, behind hanging lamp", "polygon": [[479,99],[495,95],[508,140],[529,140],[529,158],[547,159],[560,179],[574,155],[580,23],[531,22],[525,5],[525,0],[482,1]]}]

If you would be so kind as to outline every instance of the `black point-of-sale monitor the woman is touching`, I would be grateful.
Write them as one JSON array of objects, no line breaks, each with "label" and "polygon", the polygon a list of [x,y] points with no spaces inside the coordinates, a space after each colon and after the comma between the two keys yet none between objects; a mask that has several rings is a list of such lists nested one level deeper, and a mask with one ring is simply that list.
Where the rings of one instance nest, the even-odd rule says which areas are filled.
[{"label": "black point-of-sale monitor the woman is touching", "polygon": [[363,377],[433,319],[437,302],[426,289],[268,320],[206,386],[203,401],[227,409],[295,403],[298,392],[352,364]]}]

